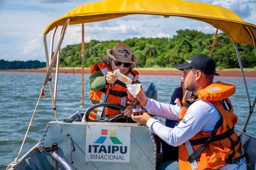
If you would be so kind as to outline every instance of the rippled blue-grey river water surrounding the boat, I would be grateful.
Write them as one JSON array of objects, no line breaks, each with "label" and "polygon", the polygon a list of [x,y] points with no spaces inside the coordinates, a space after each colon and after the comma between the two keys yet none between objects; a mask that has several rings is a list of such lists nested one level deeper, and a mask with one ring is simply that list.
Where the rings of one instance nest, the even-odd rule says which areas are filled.
[{"label": "rippled blue-grey river water surrounding the boat", "polygon": [[[6,169],[17,157],[26,133],[29,121],[35,109],[45,74],[41,73],[1,73],[0,72],[0,169]],[[170,102],[170,96],[180,85],[180,76],[141,75],[140,80],[153,81],[157,88],[160,102]],[[249,104],[242,78],[216,76],[214,81],[234,83],[235,94],[230,97],[234,112],[238,116],[237,129],[242,130],[249,114]],[[54,82],[54,79],[53,79]],[[85,76],[85,108],[90,104],[88,75]],[[248,78],[250,100],[256,95],[256,78]],[[48,85],[47,92],[50,92]],[[68,117],[81,105],[81,75],[60,74],[58,81],[57,111],[59,119]],[[85,109],[83,109],[85,110]],[[38,105],[36,115],[23,146],[21,155],[34,146],[41,138],[46,123],[55,120],[51,97],[43,97]],[[256,137],[256,116],[252,115],[247,126],[249,135]],[[21,157],[21,156],[20,156]]]}]

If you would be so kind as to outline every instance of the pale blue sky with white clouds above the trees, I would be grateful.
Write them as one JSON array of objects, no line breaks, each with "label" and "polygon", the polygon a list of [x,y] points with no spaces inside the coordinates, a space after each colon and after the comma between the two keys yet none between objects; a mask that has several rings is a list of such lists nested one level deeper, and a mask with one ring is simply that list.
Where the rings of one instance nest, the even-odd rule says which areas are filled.
[{"label": "pale blue sky with white clouds above the trees", "polygon": [[[96,1],[0,0],[0,60],[45,61],[43,31],[47,25],[77,6]],[[256,24],[256,0],[196,0],[195,2],[228,8],[245,22]],[[195,20],[170,17],[166,22],[166,18],[160,16],[136,15],[86,24],[85,42],[90,42],[92,39],[125,40],[134,37],[172,38],[179,29],[215,33],[215,29],[210,25]],[[51,34],[48,34],[48,45],[50,38]],[[81,25],[69,26],[61,48],[68,44],[80,43]]]}]

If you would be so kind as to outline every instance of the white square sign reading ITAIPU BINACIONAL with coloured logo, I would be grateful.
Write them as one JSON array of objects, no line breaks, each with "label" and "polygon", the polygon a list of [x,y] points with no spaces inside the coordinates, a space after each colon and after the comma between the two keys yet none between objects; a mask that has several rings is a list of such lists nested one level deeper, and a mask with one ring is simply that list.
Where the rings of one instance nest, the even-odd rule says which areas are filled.
[{"label": "white square sign reading ITAIPU BINACIONAL with coloured logo", "polygon": [[130,162],[130,127],[86,128],[85,161]]}]

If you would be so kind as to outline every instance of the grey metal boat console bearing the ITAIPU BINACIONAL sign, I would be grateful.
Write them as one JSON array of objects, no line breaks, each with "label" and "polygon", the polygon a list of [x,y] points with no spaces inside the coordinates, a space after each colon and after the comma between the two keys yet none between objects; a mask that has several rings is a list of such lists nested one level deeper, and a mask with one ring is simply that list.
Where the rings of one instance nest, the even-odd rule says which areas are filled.
[{"label": "grey metal boat console bearing the ITAIPU BINACIONAL sign", "polygon": [[51,121],[31,150],[16,169],[156,168],[154,136],[137,123]]}]

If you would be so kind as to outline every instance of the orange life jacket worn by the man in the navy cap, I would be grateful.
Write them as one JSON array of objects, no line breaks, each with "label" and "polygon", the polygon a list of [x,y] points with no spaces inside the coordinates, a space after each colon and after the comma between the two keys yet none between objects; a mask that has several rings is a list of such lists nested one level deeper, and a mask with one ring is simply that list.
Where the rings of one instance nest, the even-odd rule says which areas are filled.
[{"label": "orange life jacket worn by the man in the navy cap", "polygon": [[[220,81],[198,92],[198,99],[210,101],[220,112],[221,119],[213,132],[201,131],[179,146],[180,169],[218,169],[226,164],[237,163],[244,157],[241,155],[243,147],[240,138],[234,132],[238,117],[233,114],[233,106],[228,99],[234,93],[233,84]],[[183,106],[183,109],[187,110],[188,106]]]}]

